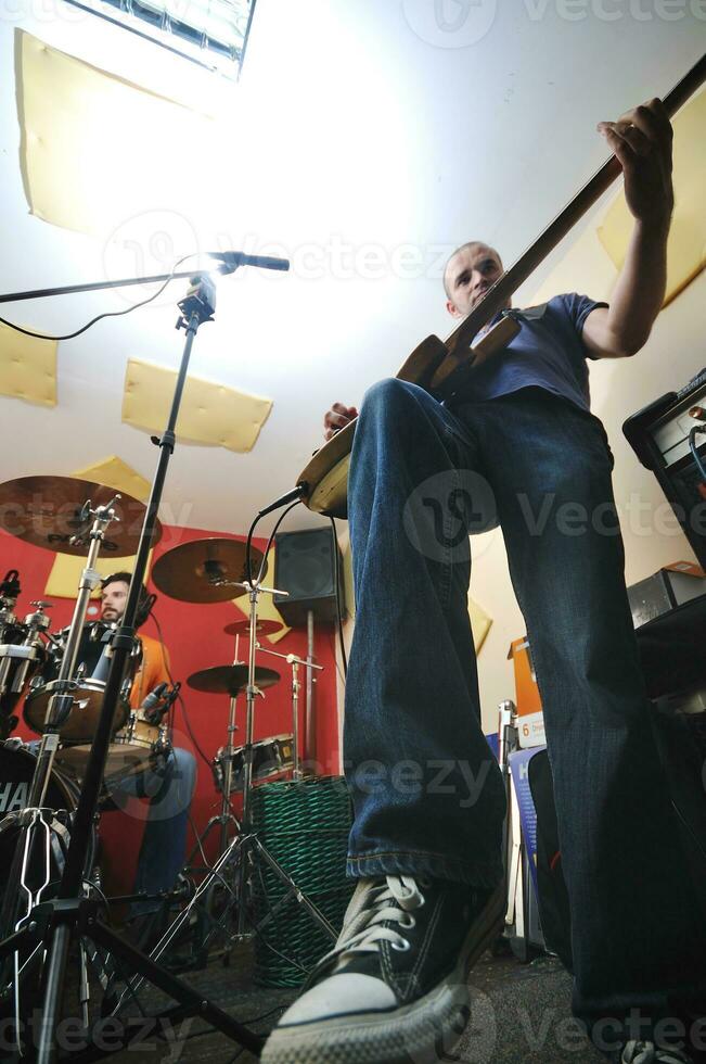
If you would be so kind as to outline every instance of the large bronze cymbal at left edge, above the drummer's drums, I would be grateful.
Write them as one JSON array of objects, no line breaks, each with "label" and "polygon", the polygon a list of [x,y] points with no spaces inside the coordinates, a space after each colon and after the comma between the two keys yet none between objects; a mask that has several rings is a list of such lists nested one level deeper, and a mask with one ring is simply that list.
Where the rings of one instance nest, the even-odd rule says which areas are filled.
[{"label": "large bronze cymbal at left edge, above the drummer's drums", "polygon": [[[57,554],[85,556],[88,540],[69,543],[79,531],[90,531],[79,515],[90,499],[93,508],[105,506],[118,493],[113,487],[76,477],[20,477],[0,484],[0,527],[18,540]],[[120,492],[115,504],[119,520],[111,521],[101,547],[102,556],[125,558],[137,554],[146,507],[131,495]],[[162,539],[162,524],[156,521],[153,543]]]}]

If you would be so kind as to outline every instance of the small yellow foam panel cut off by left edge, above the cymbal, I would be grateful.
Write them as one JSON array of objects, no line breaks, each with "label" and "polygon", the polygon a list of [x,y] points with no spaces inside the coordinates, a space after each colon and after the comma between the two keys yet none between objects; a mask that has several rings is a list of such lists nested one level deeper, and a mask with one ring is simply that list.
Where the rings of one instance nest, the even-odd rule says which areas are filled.
[{"label": "small yellow foam panel cut off by left edge, above the cymbal", "polygon": [[56,406],[56,341],[25,337],[0,324],[0,392]]}]

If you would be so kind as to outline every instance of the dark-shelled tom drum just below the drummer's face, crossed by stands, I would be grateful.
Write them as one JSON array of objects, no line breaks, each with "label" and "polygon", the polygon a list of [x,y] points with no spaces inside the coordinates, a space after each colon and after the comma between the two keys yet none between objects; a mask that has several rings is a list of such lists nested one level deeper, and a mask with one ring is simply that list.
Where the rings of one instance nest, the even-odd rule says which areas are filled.
[{"label": "dark-shelled tom drum just below the drummer's face, crossed by stands", "polygon": [[[73,706],[68,718],[62,724],[59,734],[64,744],[86,744],[91,743],[98,719],[103,707],[103,695],[105,693],[105,677],[110,667],[110,645],[113,635],[111,625],[95,623],[87,625],[81,634],[78,648],[77,669],[73,682],[76,687],[73,692]],[[54,650],[44,669],[44,674],[35,676],[31,686],[33,691],[25,699],[24,718],[27,725],[38,735],[43,734],[44,721],[49,710],[49,701],[53,694],[52,681],[59,674],[63,648],[66,646],[68,629],[60,633],[62,648]],[[113,729],[119,731],[127,723],[130,714],[130,692],[134,674],[138,671],[142,659],[142,647],[140,641],[128,658],[128,671],[120,696],[113,718]],[[87,666],[91,668],[91,675],[87,676]]]}]

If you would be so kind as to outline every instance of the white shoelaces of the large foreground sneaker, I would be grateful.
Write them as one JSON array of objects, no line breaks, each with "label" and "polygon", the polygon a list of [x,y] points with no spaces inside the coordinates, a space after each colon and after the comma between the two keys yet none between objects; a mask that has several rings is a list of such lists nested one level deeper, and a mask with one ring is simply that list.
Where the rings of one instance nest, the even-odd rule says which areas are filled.
[{"label": "white shoelaces of the large foreground sneaker", "polygon": [[381,942],[389,942],[393,949],[409,949],[409,940],[394,927],[383,927],[394,921],[405,930],[413,927],[415,909],[424,904],[424,895],[416,879],[410,875],[388,875],[385,882],[371,887],[364,895],[359,911],[348,922],[336,947],[326,953],[310,975],[315,979],[323,968],[344,961],[352,953],[377,952]]}]

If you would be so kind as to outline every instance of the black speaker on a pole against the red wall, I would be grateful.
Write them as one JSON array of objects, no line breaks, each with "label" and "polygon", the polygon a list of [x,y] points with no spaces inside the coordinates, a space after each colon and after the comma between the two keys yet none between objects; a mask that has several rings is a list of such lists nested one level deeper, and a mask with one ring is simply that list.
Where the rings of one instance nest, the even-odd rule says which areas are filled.
[{"label": "black speaker on a pole against the red wall", "polygon": [[[306,626],[307,612],[319,623],[336,622],[336,556],[338,586],[343,588],[343,563],[333,530],[307,529],[280,532],[274,537],[274,586],[290,594],[274,596],[274,605],[292,628]],[[335,554],[334,554],[335,550]],[[343,591],[341,593],[343,612]]]}]

